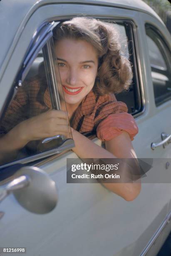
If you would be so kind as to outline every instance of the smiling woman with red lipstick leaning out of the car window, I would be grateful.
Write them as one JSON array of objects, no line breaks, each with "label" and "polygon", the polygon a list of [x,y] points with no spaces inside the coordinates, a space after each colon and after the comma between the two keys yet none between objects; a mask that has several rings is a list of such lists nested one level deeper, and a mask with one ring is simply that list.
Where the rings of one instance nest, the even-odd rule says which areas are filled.
[{"label": "smiling woman with red lipstick leaning out of the car window", "polygon": [[[80,158],[136,158],[131,144],[138,132],[134,118],[110,94],[127,89],[132,78],[118,40],[111,24],[96,19],[73,18],[54,30],[57,66],[75,142],[72,150]],[[106,149],[81,134],[95,130]],[[67,113],[48,110],[17,124],[1,138],[0,145],[3,151],[15,151],[30,141],[67,133]],[[141,189],[137,182],[104,186],[127,201],[134,200]]]}]

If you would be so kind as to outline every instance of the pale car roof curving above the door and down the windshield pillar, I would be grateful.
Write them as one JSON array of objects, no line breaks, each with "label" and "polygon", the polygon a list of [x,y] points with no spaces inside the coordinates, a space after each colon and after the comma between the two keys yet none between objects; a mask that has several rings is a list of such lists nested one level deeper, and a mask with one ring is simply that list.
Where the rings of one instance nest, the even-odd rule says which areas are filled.
[{"label": "pale car roof curving above the door and down the windshield pillar", "polygon": [[[78,4],[96,4],[105,6],[115,6],[131,10],[138,10],[155,16],[160,21],[159,16],[149,5],[142,0],[1,0],[0,1],[0,67],[5,56],[10,49],[12,40],[16,39],[18,33],[21,33],[32,13],[37,8],[45,4],[53,3],[78,3]],[[9,54],[9,52],[8,52]]]}]

